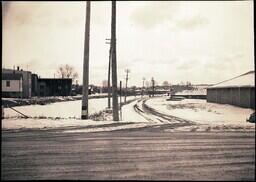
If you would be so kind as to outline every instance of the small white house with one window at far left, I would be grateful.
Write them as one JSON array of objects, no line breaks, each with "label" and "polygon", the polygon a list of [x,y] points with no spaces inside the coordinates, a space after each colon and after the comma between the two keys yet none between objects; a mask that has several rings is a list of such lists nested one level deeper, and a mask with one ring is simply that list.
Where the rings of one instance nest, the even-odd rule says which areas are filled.
[{"label": "small white house with one window at far left", "polygon": [[22,98],[22,74],[2,74],[2,97]]}]

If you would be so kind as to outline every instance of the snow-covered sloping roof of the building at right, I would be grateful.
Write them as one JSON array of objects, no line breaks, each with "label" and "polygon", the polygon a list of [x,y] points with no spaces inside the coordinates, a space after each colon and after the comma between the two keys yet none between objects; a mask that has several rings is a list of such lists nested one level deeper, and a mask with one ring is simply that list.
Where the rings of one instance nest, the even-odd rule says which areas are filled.
[{"label": "snow-covered sloping roof of the building at right", "polygon": [[255,71],[249,71],[229,80],[217,83],[211,88],[255,87]]}]

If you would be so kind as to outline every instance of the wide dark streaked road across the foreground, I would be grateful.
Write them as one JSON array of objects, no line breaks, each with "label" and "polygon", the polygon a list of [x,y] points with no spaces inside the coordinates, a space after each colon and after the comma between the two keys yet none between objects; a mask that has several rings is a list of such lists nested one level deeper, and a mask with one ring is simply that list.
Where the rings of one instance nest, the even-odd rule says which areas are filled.
[{"label": "wide dark streaked road across the foreground", "polygon": [[1,157],[4,180],[254,180],[255,132],[3,131]]}]

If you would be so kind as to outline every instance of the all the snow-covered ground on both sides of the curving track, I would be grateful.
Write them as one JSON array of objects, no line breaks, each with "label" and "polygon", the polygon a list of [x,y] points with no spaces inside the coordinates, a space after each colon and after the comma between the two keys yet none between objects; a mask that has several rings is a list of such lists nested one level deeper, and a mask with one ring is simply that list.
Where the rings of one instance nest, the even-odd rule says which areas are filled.
[{"label": "all the snow-covered ground on both sides of the curving track", "polygon": [[[140,97],[137,97],[139,99]],[[136,99],[128,97],[127,101]],[[167,97],[150,98],[145,102],[147,106],[159,113],[176,116],[196,123],[166,131],[223,131],[255,130],[254,123],[246,122],[252,109],[245,109],[231,105],[207,103],[206,100],[184,99],[181,101],[166,101]],[[122,107],[121,121],[112,121],[112,115],[103,113],[104,121],[81,120],[81,100],[59,102],[48,105],[28,105],[14,107],[18,111],[32,118],[20,118],[20,114],[11,109],[5,109],[5,119],[2,129],[58,129],[66,128],[64,132],[95,132],[112,131],[146,126],[160,126],[152,115],[140,115],[134,110],[137,100]],[[142,102],[140,102],[141,104]],[[90,99],[89,114],[97,114],[107,107],[107,98]],[[142,108],[142,106],[140,106]],[[106,115],[105,115],[106,114]],[[172,122],[175,124],[175,122]],[[80,127],[80,128],[79,128]]]}]

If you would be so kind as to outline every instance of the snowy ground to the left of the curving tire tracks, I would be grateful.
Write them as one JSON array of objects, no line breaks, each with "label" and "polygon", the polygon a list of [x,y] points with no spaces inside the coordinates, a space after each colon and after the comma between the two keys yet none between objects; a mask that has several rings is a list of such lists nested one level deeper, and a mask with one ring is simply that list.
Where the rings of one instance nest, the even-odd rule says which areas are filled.
[{"label": "snowy ground to the left of the curving tire tracks", "polygon": [[[136,99],[134,96],[127,97],[127,101]],[[117,124],[116,121],[111,121],[106,118],[105,121],[81,120],[81,100],[58,102],[48,105],[28,105],[14,107],[18,111],[31,116],[32,118],[20,118],[20,114],[11,110],[4,109],[5,119],[2,120],[2,129],[53,129],[63,127],[86,127],[96,126],[94,128],[72,129],[66,132],[91,132],[91,131],[111,131],[124,128],[138,128],[144,127],[149,123],[141,118],[140,115],[134,115],[133,104],[124,105],[122,107],[122,120]],[[136,102],[136,101],[135,101]],[[105,110],[107,107],[107,98],[90,99],[89,100],[89,114],[95,114]],[[133,117],[130,117],[133,116]],[[126,125],[126,123],[129,123]],[[144,122],[144,123],[143,123]],[[102,125],[102,126],[100,126]],[[109,126],[104,126],[109,125]],[[97,127],[100,126],[100,127]]]}]

